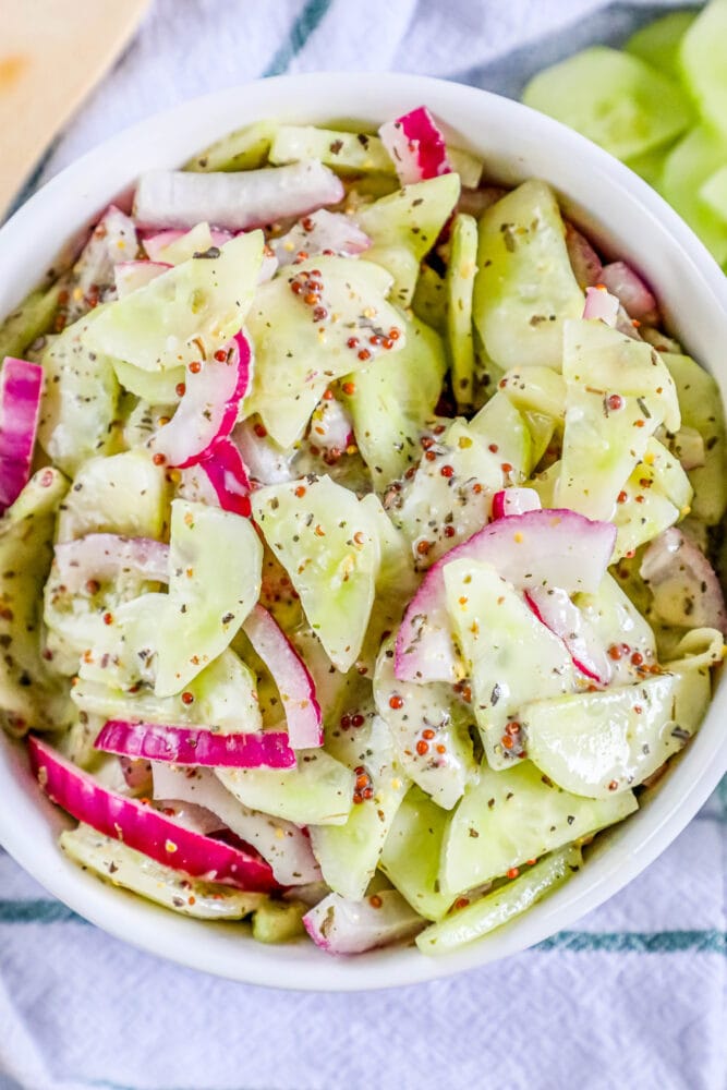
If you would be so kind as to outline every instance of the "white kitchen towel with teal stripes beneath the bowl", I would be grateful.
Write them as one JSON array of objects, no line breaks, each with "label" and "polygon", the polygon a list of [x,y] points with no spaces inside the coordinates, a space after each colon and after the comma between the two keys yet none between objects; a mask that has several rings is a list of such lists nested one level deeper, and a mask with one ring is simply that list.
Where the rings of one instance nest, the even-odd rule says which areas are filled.
[{"label": "white kitchen towel with teal stripes beneath the bowl", "polygon": [[[393,69],[517,95],[664,7],[157,0],[32,184],[150,112],[265,74]],[[726,903],[723,782],[653,867],[535,949],[392,992],[281,993],[108,937],[0,851],[0,1090],[725,1090]]]}]

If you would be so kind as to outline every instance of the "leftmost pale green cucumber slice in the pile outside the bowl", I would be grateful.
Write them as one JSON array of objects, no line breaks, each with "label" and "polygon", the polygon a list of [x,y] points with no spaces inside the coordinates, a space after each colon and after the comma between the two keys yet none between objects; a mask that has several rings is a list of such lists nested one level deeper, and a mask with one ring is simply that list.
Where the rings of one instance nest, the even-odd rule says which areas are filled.
[{"label": "leftmost pale green cucumber slice in the pile outside the bowl", "polygon": [[570,125],[617,159],[643,155],[693,119],[688,95],[640,58],[593,46],[528,84],[522,100]]}]

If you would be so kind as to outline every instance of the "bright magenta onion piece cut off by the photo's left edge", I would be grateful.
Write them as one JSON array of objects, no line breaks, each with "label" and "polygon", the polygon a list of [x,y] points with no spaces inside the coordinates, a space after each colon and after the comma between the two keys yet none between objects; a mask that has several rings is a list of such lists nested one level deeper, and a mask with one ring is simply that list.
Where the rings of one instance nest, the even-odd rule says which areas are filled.
[{"label": "bright magenta onion piece cut off by the photo's left edge", "polygon": [[39,364],[5,356],[0,373],[0,512],[29,481],[41,390]]}]

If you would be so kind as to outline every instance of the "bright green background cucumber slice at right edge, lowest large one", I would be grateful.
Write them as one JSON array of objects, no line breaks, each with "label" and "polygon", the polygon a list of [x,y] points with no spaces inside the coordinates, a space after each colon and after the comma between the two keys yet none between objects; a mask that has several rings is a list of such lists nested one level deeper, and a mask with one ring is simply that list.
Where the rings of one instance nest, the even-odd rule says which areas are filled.
[{"label": "bright green background cucumber slice at right edge, lowest large one", "polygon": [[702,185],[727,162],[727,135],[707,124],[692,129],[669,152],[658,191],[717,262],[727,261],[727,222],[702,198]]}]

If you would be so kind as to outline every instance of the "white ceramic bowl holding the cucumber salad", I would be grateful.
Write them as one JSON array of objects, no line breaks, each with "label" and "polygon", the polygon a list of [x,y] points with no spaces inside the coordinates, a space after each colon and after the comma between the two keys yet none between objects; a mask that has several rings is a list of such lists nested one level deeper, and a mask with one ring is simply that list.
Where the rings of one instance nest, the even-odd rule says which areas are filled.
[{"label": "white ceramic bowl holding the cucumber salad", "polygon": [[[266,80],[198,98],[111,137],[54,178],[0,231],[0,315],[34,287],[63,244],[145,170],[174,167],[225,133],[272,117],[355,119],[375,128],[426,104],[457,144],[505,183],[537,175],[607,253],[633,262],[654,287],[668,326],[727,388],[727,279],[670,208],[610,156],[505,98],[453,83],[398,75]],[[126,942],[182,965],[278,988],[353,990],[410,984],[521,950],[573,924],[652,862],[727,770],[727,689],[696,739],[642,810],[601,838],[587,865],[554,896],[481,943],[443,958],[416,948],[331,958],[308,942],[263,946],[243,928],[174,916],[101,884],[57,847],[61,813],[33,782],[23,751],[0,731],[0,841],[50,893]]]}]

